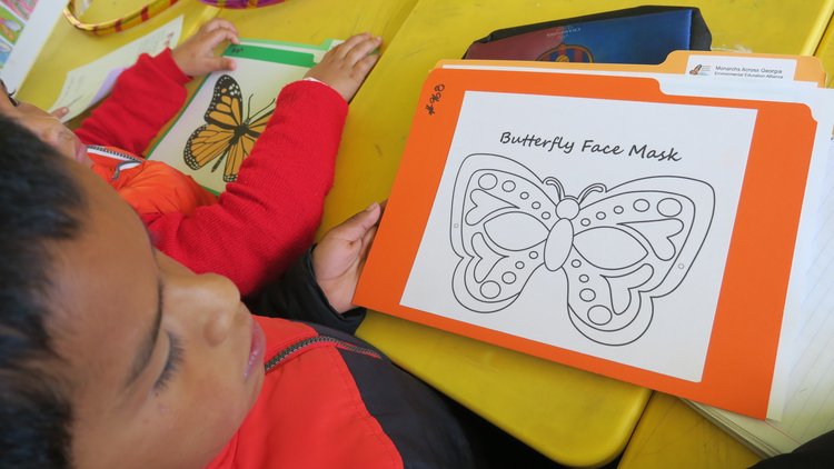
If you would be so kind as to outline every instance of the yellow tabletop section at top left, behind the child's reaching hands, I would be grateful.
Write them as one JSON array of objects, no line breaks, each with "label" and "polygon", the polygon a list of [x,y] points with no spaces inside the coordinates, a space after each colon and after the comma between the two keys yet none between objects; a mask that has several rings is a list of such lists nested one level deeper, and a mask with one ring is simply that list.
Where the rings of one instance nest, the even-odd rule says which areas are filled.
[{"label": "yellow tabletop section at top left, behind the child's reaching hands", "polygon": [[[81,19],[91,23],[111,20],[141,8],[147,2],[148,0],[95,1]],[[58,98],[64,73],[141,38],[178,16],[183,18],[180,40],[191,36],[206,21],[220,17],[232,21],[240,36],[248,38],[319,44],[326,39],[344,39],[357,32],[370,31],[388,42],[415,2],[416,0],[289,0],[258,9],[228,10],[208,7],[196,0],[182,0],[145,23],[101,37],[80,31],[60,19],[17,96],[46,109]],[[192,88],[197,81],[191,83]]]}]

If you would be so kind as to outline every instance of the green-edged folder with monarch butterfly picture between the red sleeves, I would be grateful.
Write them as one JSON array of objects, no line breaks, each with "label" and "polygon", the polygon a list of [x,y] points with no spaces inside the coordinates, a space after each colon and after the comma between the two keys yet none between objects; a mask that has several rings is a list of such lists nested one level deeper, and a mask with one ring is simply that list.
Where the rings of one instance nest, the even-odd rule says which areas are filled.
[{"label": "green-edged folder with monarch butterfly picture between the red sleeves", "polygon": [[[209,73],[148,159],[163,161],[220,193],[266,127],[284,86],[304,78],[340,41],[318,46],[241,39],[224,56],[234,71]],[[237,130],[235,130],[237,129]]]}]

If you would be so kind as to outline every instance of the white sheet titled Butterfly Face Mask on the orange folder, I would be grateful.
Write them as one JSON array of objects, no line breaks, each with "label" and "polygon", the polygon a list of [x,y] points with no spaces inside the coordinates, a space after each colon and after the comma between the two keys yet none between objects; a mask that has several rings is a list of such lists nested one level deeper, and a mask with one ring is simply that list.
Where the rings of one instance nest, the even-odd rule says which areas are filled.
[{"label": "white sheet titled Butterfly Face Mask on the orange folder", "polygon": [[[401,303],[698,381],[721,288],[714,272],[726,261],[755,117],[747,109],[467,92]],[[644,148],[665,157],[647,158],[637,151]],[[453,193],[469,182],[466,161],[473,158],[494,171],[475,174],[483,187],[467,189],[483,203],[456,210]],[[500,188],[490,189],[495,184],[480,178],[497,178]],[[575,221],[587,227],[563,241],[572,247],[564,263],[546,259],[553,246],[547,229],[523,239],[536,231],[535,218],[553,211],[546,199],[559,200],[546,178],[558,179],[564,196],[577,198],[583,208]],[[595,184],[610,192],[589,192],[583,200],[583,191]],[[614,194],[618,191],[623,194]],[[502,202],[494,200],[504,193]],[[473,213],[500,213],[505,201],[530,217],[499,214],[483,229],[468,229],[475,226]],[[548,227],[546,219],[539,221]],[[465,238],[467,246],[456,248],[450,236]],[[647,243],[639,247],[629,236]],[[486,245],[493,243],[498,248],[489,259]],[[542,249],[527,248],[537,243]],[[629,266],[639,257],[652,267],[633,271]],[[595,266],[619,275],[608,271],[603,278]],[[460,280],[469,271],[474,280]],[[480,280],[490,278],[486,272],[500,275]],[[588,315],[599,315],[595,323],[568,313],[568,305],[579,311],[604,296],[610,296],[608,316],[593,307]]]}]

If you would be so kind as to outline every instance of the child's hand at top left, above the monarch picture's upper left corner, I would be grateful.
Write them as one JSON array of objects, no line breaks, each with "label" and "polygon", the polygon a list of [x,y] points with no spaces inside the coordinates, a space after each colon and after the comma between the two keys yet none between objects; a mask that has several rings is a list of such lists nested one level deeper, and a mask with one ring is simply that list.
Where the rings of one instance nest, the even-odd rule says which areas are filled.
[{"label": "child's hand at top left, above the monarch picture's upper left corner", "polygon": [[229,21],[216,18],[177,46],[171,56],[182,73],[189,77],[199,77],[217,70],[235,70],[234,60],[215,54],[215,48],[222,41],[240,43],[235,27]]}]

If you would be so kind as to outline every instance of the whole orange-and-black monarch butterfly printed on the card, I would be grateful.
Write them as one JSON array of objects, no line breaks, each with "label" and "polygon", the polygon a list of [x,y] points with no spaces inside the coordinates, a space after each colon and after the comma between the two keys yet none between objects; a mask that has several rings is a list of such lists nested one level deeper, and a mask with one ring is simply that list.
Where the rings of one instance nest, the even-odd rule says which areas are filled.
[{"label": "whole orange-and-black monarch butterfly printed on the card", "polygon": [[244,96],[238,82],[228,74],[217,79],[211,102],[203,116],[206,123],[197,128],[186,142],[183,159],[189,168],[199,170],[217,160],[211,167],[211,172],[215,172],[226,160],[224,181],[232,182],[237,179],[240,164],[251,152],[255,141],[267,127],[275,110],[274,99],[251,114],[251,100],[250,94],[245,112]]}]

